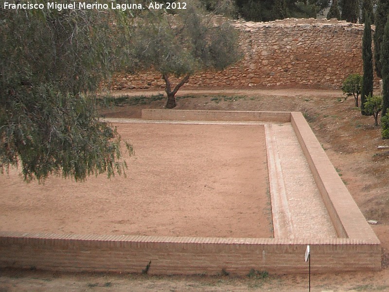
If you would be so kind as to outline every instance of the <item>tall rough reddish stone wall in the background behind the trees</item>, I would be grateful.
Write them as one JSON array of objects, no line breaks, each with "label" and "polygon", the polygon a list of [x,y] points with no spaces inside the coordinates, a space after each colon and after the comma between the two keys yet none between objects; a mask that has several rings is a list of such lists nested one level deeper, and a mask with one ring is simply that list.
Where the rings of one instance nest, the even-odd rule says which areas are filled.
[{"label": "tall rough reddish stone wall in the background behind the trees", "polygon": [[[362,73],[363,25],[335,19],[240,22],[244,58],[221,72],[193,75],[191,88],[339,88],[351,73]],[[161,89],[159,73],[117,75],[111,89]],[[378,78],[375,78],[378,85]],[[176,81],[177,82],[177,81]]]}]

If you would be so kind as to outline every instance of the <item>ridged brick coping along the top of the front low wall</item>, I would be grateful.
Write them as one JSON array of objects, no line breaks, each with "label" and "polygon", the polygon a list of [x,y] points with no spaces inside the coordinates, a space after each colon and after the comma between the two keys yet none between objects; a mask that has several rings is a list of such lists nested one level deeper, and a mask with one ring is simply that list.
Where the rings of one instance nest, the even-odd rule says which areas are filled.
[{"label": "ridged brick coping along the top of the front low wall", "polygon": [[202,244],[239,244],[239,245],[380,245],[374,239],[356,238],[237,238],[237,237],[164,237],[132,235],[77,235],[53,233],[23,233],[0,231],[0,242],[4,240],[69,240],[69,241],[106,241],[106,242],[144,242],[144,243],[202,243]]}]

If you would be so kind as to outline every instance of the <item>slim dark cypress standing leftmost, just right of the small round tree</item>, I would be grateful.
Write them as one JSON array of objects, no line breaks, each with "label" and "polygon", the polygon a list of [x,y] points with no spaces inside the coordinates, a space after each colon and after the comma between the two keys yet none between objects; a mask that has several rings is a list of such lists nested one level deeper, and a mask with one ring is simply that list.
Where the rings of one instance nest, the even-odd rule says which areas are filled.
[{"label": "slim dark cypress standing leftmost, just right of the small round tree", "polygon": [[365,111],[365,101],[369,95],[373,95],[373,54],[371,52],[371,23],[370,17],[365,15],[365,28],[362,37],[363,77],[361,92],[361,113],[370,115]]}]

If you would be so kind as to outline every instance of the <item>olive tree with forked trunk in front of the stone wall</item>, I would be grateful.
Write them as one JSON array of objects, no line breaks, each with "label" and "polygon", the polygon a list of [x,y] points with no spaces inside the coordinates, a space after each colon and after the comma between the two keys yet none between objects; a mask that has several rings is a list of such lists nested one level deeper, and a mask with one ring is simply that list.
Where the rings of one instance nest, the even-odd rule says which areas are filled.
[{"label": "olive tree with forked trunk in front of the stone wall", "polygon": [[[223,70],[242,56],[238,33],[230,23],[203,16],[194,3],[175,16],[154,12],[138,19],[132,47],[139,68],[162,75],[167,109],[176,107],[175,95],[193,73]],[[176,85],[172,76],[179,78]]]}]

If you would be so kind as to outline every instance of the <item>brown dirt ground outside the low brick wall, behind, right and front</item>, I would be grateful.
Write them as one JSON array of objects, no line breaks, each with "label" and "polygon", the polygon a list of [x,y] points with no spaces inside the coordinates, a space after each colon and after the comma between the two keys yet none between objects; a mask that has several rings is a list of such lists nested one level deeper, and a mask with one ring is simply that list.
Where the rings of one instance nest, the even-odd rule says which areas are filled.
[{"label": "brown dirt ground outside the low brick wall, behind, right and front", "polygon": [[[118,95],[124,92],[117,93]],[[131,92],[132,95],[146,94]],[[147,93],[149,94],[149,93]],[[162,109],[165,100],[123,104],[103,116],[140,117],[142,108]],[[389,141],[373,118],[362,116],[341,91],[179,91],[177,109],[301,111],[382,243],[382,271],[312,275],[311,291],[389,291]],[[147,276],[1,271],[2,291],[307,291],[308,276]]]}]

